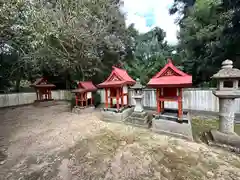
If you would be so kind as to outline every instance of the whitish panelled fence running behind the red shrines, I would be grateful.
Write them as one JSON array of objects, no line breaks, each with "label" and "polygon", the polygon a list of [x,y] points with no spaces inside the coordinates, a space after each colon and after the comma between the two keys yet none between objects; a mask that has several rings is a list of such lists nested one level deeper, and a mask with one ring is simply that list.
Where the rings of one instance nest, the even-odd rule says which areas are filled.
[{"label": "whitish panelled fence running behind the red shrines", "polygon": [[[105,93],[99,90],[101,102],[105,100]],[[52,96],[56,100],[67,100],[71,98],[69,91],[53,91]],[[132,91],[129,93],[132,97]],[[31,104],[36,99],[35,93],[16,93],[16,94],[1,94],[0,107],[17,106]],[[135,102],[132,98],[129,99],[130,104]],[[143,105],[145,107],[156,108],[156,93],[152,89],[144,90]],[[177,108],[177,103],[166,102],[165,107]],[[236,111],[240,113],[240,99],[236,99]],[[212,90],[186,89],[183,92],[183,108],[188,110],[211,111],[218,112],[218,98],[212,94]]]}]

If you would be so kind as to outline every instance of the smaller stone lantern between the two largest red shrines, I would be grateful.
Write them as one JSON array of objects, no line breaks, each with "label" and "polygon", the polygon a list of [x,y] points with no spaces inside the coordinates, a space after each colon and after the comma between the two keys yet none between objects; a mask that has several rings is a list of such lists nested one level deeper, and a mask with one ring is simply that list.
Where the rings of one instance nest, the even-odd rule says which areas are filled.
[{"label": "smaller stone lantern between the two largest red shrines", "polygon": [[143,88],[144,86],[142,86],[142,84],[140,83],[140,79],[137,79],[136,84],[131,87],[131,89],[134,90],[134,94],[132,97],[136,101],[134,112],[143,112],[143,105],[142,105]]}]

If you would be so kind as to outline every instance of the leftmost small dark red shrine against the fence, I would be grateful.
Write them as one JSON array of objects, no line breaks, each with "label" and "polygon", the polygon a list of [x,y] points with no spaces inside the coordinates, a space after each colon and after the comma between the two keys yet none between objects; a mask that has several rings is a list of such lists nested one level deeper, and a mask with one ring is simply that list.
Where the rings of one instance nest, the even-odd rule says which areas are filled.
[{"label": "leftmost small dark red shrine against the fence", "polygon": [[52,99],[52,89],[55,88],[54,84],[51,84],[45,78],[37,79],[33,84],[33,87],[37,94],[37,101],[50,101]]}]

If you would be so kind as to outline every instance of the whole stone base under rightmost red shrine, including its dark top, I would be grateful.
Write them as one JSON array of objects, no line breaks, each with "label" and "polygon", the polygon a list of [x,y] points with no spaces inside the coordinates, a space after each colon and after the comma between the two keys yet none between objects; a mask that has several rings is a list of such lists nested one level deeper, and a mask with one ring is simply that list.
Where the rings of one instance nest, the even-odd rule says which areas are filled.
[{"label": "whole stone base under rightmost red shrine, including its dark top", "polygon": [[193,140],[191,118],[187,112],[183,112],[181,120],[178,120],[177,112],[174,110],[154,115],[152,131]]}]

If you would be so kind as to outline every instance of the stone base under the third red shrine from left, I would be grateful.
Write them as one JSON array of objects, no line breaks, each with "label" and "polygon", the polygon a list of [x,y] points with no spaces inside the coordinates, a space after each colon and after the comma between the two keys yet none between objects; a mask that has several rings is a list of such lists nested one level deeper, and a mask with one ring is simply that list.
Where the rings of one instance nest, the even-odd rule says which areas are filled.
[{"label": "stone base under the third red shrine from left", "polygon": [[103,109],[101,111],[101,120],[110,122],[123,122],[133,113],[133,107],[124,108],[121,111],[115,111],[113,108]]}]

